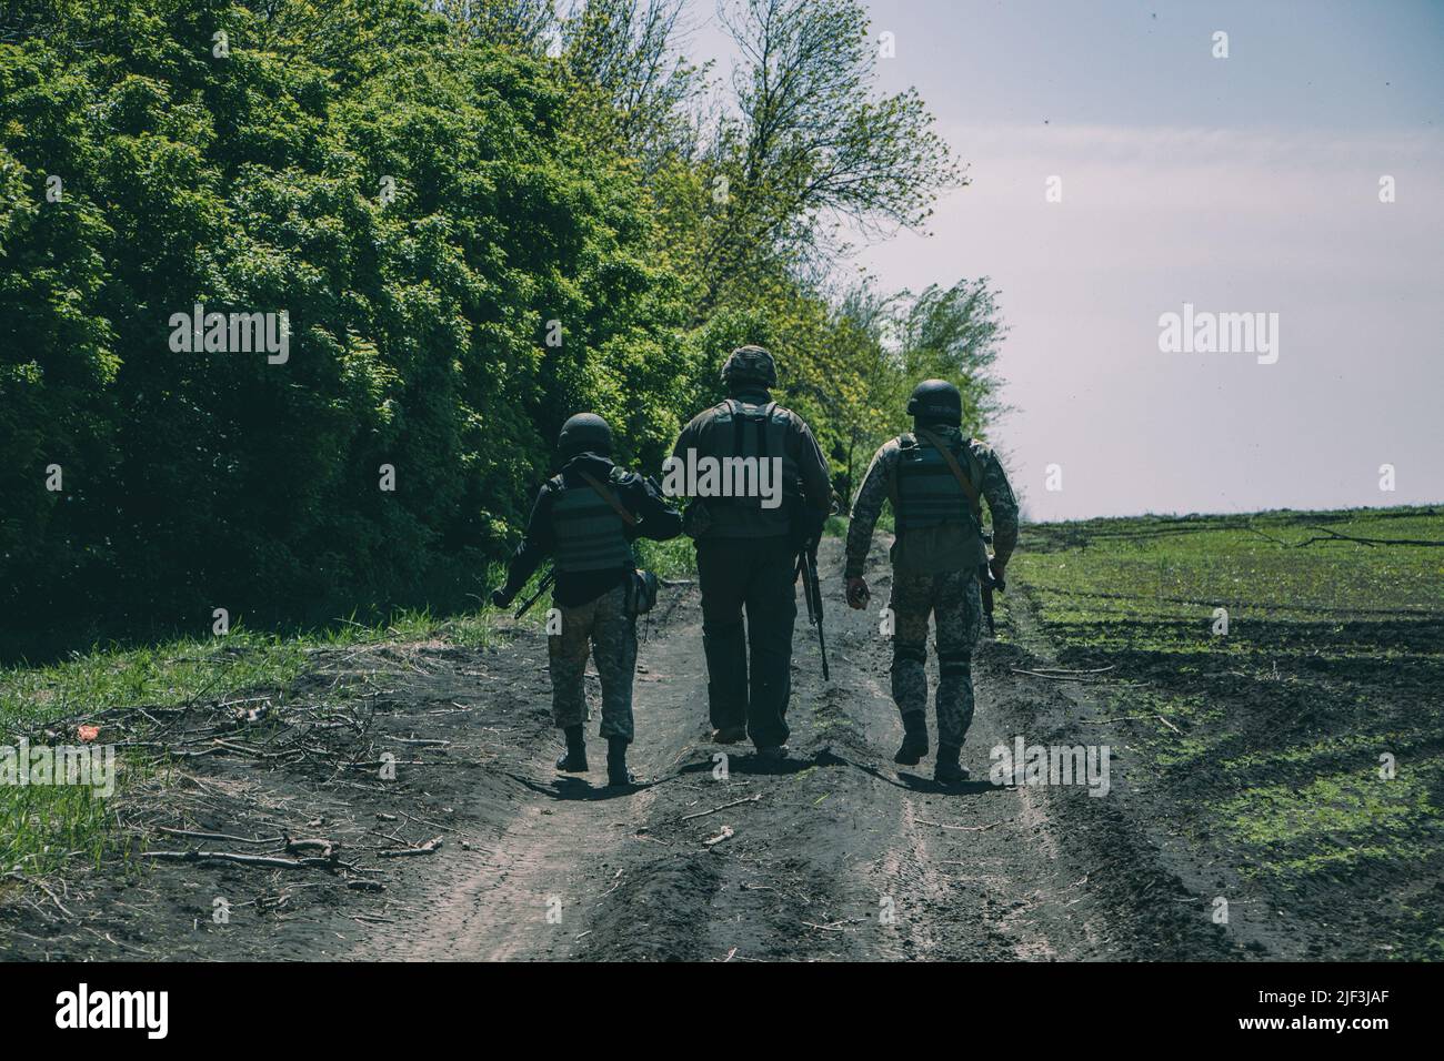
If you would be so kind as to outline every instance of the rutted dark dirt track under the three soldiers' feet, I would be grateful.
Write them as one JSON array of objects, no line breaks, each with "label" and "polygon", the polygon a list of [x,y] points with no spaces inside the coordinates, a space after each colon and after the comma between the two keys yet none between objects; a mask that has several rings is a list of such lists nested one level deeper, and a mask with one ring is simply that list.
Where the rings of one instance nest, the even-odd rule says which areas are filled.
[{"label": "rutted dark dirt track under the three soldiers' feet", "polygon": [[[666,590],[644,629],[632,759],[648,784],[632,791],[602,787],[605,745],[595,738],[589,777],[553,769],[540,631],[508,629],[484,651],[420,645],[368,655],[345,665],[386,676],[373,736],[448,741],[439,759],[401,765],[387,784],[202,759],[192,784],[204,798],[191,801],[182,794],[189,787],[179,787],[166,824],[245,836],[309,829],[368,856],[440,836],[438,853],[368,857],[357,876],[374,881],[374,891],[323,872],[212,862],[160,863],[129,879],[97,875],[84,882],[84,925],[45,917],[43,904],[30,904],[36,914],[7,905],[0,937],[6,927],[13,935],[3,953],[1050,960],[1229,959],[1274,948],[1246,928],[1212,924],[1209,898],[1225,879],[1131,817],[1126,749],[1115,748],[1108,798],[1083,787],[989,782],[989,749],[1015,735],[1083,739],[1063,720],[1086,704],[1064,684],[1011,673],[1038,660],[1018,644],[985,641],[975,661],[969,785],[936,787],[931,756],[894,767],[901,728],[877,615],[888,590],[882,547],[872,612],[832,603],[842,583],[838,543],[826,543],[822,566],[833,680],[822,681],[804,612],[788,713],[793,762],[781,771],[760,771],[748,746],[708,739],[693,589]],[[1017,637],[1045,652],[1027,612],[1015,621]],[[345,670],[329,663],[328,676]],[[293,696],[326,689],[318,677]],[[1109,736],[1095,725],[1086,739]],[[723,751],[731,755],[721,764],[713,756]],[[734,805],[702,814],[723,804]],[[706,846],[723,827],[734,834]],[[156,846],[168,844],[150,840]],[[231,904],[227,924],[211,917],[217,896]]]}]

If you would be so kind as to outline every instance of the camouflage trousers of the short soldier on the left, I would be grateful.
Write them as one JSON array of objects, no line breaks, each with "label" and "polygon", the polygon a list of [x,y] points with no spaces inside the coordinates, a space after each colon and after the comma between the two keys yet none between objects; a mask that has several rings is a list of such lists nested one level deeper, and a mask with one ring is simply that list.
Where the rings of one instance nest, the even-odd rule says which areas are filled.
[{"label": "camouflage trousers of the short soldier on the left", "polygon": [[557,729],[586,722],[586,657],[602,681],[604,738],[632,739],[631,690],[637,674],[637,618],[627,614],[627,586],[595,601],[560,608],[562,632],[547,639],[552,717]]}]

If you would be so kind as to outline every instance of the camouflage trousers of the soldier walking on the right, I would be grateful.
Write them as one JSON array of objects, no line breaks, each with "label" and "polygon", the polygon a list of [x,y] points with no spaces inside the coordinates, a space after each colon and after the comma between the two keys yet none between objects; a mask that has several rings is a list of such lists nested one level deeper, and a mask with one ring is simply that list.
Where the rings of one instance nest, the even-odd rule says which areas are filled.
[{"label": "camouflage trousers of the soldier walking on the right", "polygon": [[892,576],[892,699],[927,712],[927,616],[937,622],[937,743],[962,746],[973,720],[973,647],[983,601],[973,572]]}]

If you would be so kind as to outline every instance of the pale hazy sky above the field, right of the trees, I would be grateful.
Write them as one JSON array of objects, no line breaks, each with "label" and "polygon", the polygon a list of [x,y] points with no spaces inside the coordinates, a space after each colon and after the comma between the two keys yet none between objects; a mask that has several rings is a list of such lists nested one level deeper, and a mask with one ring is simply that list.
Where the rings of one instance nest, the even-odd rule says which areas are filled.
[{"label": "pale hazy sky above the field, right of the trees", "polygon": [[[1444,0],[869,10],[970,183],[845,267],[991,277],[1031,518],[1444,501]],[[1164,349],[1186,303],[1272,349]]]}]

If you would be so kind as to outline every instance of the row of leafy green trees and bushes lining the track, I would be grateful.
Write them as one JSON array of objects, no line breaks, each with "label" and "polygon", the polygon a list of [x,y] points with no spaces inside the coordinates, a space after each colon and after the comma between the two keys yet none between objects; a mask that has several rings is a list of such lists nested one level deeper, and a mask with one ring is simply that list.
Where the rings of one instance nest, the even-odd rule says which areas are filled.
[{"label": "row of leafy green trees and bushes lining the track", "polygon": [[0,3],[0,654],[462,603],[569,414],[656,469],[744,342],[843,495],[920,375],[985,424],[986,281],[832,280],[963,180],[861,6],[719,16],[726,72],[680,0]]}]

